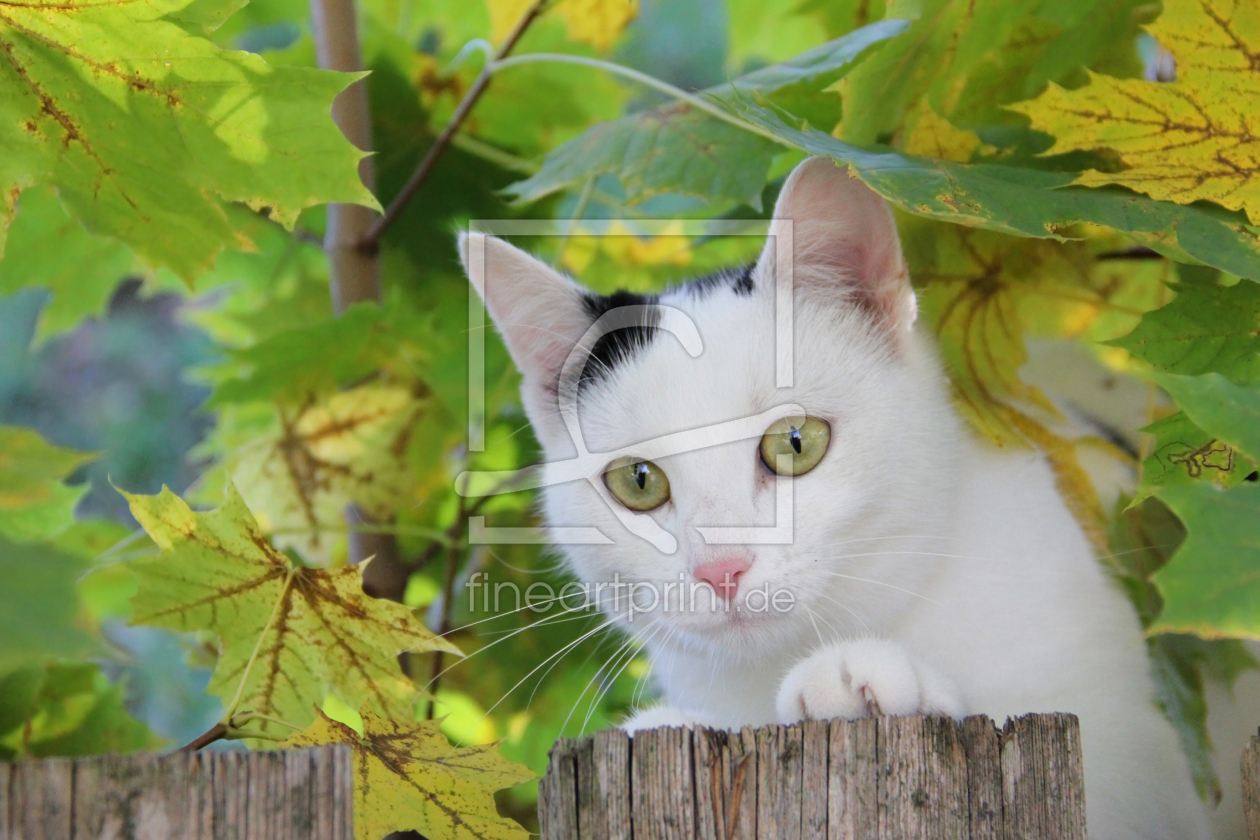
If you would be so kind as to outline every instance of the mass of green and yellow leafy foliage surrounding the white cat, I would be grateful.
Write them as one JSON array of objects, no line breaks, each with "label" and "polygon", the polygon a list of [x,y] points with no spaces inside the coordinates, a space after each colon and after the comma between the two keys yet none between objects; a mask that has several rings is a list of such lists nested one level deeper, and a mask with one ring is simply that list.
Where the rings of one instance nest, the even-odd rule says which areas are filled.
[{"label": "mass of green and yellow leafy foliage surrounding the white cat", "polygon": [[[483,67],[452,63],[461,48],[498,43],[525,5],[360,4],[375,198],[329,116],[354,77],[314,67],[305,1],[0,8],[0,295],[52,292],[48,336],[100,314],[134,275],[188,295],[185,316],[222,348],[197,373],[217,428],[195,457],[213,467],[188,501],[125,494],[152,543],[72,524],[82,490],[66,479],[91,456],[0,427],[0,565],[18,583],[0,591],[0,758],[155,746],[125,686],[86,659],[130,617],[189,633],[227,737],[349,743],[359,840],[455,836],[451,812],[485,836],[522,836],[494,800],[517,785],[499,803],[529,822],[529,775],[508,759],[541,772],[557,735],[614,723],[646,674],[597,616],[465,588],[489,569],[522,589],[563,579],[538,547],[469,544],[470,514],[529,528],[533,499],[460,499],[452,476],[527,466],[538,447],[493,334],[486,446],[466,447],[469,290],[452,230],[598,220],[626,236],[523,244],[600,291],[653,291],[760,243],[645,236],[639,219],[765,217],[762,198],[809,154],[897,208],[961,413],[1053,466],[1148,630],[1157,700],[1201,795],[1218,795],[1203,686],[1252,667],[1239,639],[1260,639],[1260,489],[1246,481],[1260,458],[1260,238],[1242,178],[1254,141],[1232,128],[1254,110],[1256,72],[1239,63],[1257,49],[1254,13],[1231,0],[1167,0],[1162,16],[1142,0],[713,0],[645,8],[627,26],[634,3],[563,0],[518,44],[534,58],[494,69],[386,232],[381,302],[334,317],[318,205],[396,196]],[[728,31],[683,31],[706,10]],[[1222,40],[1213,15],[1239,39]],[[1140,78],[1152,24],[1177,53],[1172,84]],[[670,58],[670,39],[685,55]],[[1205,45],[1232,62],[1236,87],[1203,69]],[[1201,108],[1177,111],[1188,142],[1176,152],[1166,123],[1133,130],[1169,97]],[[1133,504],[1102,510],[1077,461],[1097,442],[1070,437],[1023,379],[1031,336],[1080,341],[1118,380],[1150,383],[1131,423],[1145,434]],[[18,339],[5,350],[25,353],[29,334]],[[220,491],[215,510],[189,506]],[[381,534],[415,562],[407,607],[365,596],[362,567],[345,565],[353,542]],[[444,724],[422,699],[437,651]],[[447,738],[478,746],[452,752]]]}]

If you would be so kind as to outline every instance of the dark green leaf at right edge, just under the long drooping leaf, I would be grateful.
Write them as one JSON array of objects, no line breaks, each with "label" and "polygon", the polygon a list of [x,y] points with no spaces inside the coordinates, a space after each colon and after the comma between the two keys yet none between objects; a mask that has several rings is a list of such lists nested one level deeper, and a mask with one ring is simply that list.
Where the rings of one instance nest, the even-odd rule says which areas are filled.
[{"label": "dark green leaf at right edge, just under the long drooping leaf", "polygon": [[1260,283],[1179,283],[1167,306],[1108,341],[1168,373],[1260,380]]}]

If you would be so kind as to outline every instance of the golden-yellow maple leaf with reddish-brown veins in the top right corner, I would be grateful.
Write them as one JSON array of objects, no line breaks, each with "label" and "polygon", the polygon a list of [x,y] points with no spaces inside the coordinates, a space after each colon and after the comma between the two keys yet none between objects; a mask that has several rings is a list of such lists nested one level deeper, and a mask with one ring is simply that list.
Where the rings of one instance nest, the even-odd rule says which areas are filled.
[{"label": "golden-yellow maple leaf with reddish-brown veins in the top right corner", "polygon": [[1250,0],[1167,0],[1149,31],[1177,62],[1173,82],[1091,76],[1011,106],[1055,136],[1046,154],[1113,149],[1125,169],[1079,184],[1121,184],[1152,198],[1202,199],[1260,224],[1260,6]]}]

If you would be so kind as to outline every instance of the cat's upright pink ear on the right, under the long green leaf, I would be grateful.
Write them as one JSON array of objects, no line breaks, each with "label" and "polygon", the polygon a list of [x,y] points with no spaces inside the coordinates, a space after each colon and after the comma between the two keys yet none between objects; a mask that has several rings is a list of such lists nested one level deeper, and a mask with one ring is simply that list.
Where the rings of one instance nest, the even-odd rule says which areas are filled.
[{"label": "cat's upright pink ear on the right, under the long green leaf", "polygon": [[776,234],[786,233],[788,219],[798,292],[854,302],[890,330],[914,324],[915,293],[892,210],[848,166],[810,157],[788,176],[757,263],[759,282],[771,282],[769,270],[785,244]]}]

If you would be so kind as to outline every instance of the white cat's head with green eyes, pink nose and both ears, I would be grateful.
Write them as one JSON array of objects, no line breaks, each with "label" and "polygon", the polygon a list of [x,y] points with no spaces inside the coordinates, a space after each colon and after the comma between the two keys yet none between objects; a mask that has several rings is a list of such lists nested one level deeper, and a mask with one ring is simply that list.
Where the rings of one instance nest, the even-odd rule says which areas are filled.
[{"label": "white cat's head with green eyes, pink nose and both ears", "polygon": [[955,421],[892,213],[847,169],[798,166],[755,266],[659,296],[479,234],[461,253],[523,374],[547,525],[606,538],[563,545],[605,608],[731,647],[901,603],[925,565],[885,540],[932,528]]}]

